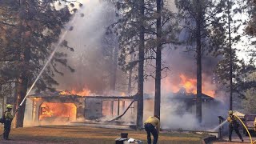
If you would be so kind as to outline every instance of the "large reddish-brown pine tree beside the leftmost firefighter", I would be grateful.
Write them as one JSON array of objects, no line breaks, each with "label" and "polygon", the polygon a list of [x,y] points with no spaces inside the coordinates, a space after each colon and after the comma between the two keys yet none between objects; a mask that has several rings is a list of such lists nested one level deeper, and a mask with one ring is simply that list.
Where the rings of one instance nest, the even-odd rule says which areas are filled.
[{"label": "large reddish-brown pine tree beside the leftmost firefighter", "polygon": [[[57,10],[56,5],[62,5],[62,9]],[[82,6],[82,4],[79,5]],[[34,82],[49,58],[53,44],[58,42],[66,22],[70,21],[71,14],[77,9],[74,8],[73,3],[52,0],[11,0],[1,3],[0,6],[4,14],[0,23],[1,61],[6,63],[6,66],[2,67],[1,76],[17,83],[18,95],[15,98],[17,109],[25,98],[28,87]],[[66,41],[62,42],[62,47],[73,50],[67,46]],[[54,55],[50,66],[47,66],[36,83],[37,91],[54,90],[52,87],[58,85],[54,80],[55,74],[62,74],[58,70],[58,64],[74,71],[67,64],[65,57],[66,54],[62,52]],[[23,126],[25,105],[26,102],[19,107],[14,118],[14,127]]]}]

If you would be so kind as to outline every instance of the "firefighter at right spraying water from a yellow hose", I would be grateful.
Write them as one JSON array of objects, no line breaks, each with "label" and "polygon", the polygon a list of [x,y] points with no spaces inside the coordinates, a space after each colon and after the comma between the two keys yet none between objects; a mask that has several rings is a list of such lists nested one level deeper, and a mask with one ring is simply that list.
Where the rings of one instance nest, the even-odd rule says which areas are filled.
[{"label": "firefighter at right spraying water from a yellow hose", "polygon": [[229,117],[227,118],[227,122],[230,122],[230,125],[229,125],[229,141],[231,142],[231,136],[232,136],[232,132],[234,130],[235,133],[238,134],[238,137],[243,142],[242,135],[240,134],[240,132],[238,130],[239,123],[237,121],[237,118],[234,117],[232,110],[229,111]]}]

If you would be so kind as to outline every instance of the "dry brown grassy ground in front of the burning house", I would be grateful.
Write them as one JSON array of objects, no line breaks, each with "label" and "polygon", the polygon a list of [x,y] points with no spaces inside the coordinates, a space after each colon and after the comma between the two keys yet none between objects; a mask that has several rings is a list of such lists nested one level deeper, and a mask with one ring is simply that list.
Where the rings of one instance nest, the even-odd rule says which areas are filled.
[{"label": "dry brown grassy ground in front of the burning house", "polygon": [[[2,131],[2,127],[0,128]],[[37,143],[114,143],[121,132],[128,133],[129,138],[146,142],[145,131],[102,129],[88,126],[37,126],[12,129],[10,140],[0,143],[37,144]],[[161,133],[159,144],[198,144],[202,143],[200,134]]]}]

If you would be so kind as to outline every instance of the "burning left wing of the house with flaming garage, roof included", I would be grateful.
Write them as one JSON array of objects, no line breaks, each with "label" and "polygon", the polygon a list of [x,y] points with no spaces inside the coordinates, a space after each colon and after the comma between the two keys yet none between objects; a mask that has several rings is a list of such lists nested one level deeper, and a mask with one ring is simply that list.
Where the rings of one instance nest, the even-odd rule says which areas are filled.
[{"label": "burning left wing of the house with flaming garage, roof included", "polygon": [[30,95],[33,122],[74,122],[119,115],[131,96],[81,96],[67,90]]}]

